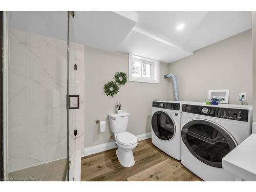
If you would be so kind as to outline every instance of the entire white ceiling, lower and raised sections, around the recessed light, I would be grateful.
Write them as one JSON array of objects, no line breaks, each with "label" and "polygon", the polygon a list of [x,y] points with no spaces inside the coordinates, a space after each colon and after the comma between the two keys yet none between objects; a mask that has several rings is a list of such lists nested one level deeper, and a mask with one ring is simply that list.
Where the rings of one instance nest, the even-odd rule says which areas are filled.
[{"label": "entire white ceiling, lower and raised sections, around the recessed light", "polygon": [[[178,31],[179,24],[184,29]],[[67,12],[10,12],[9,27],[67,40]],[[248,11],[75,11],[70,37],[81,45],[169,63],[250,28]]]}]

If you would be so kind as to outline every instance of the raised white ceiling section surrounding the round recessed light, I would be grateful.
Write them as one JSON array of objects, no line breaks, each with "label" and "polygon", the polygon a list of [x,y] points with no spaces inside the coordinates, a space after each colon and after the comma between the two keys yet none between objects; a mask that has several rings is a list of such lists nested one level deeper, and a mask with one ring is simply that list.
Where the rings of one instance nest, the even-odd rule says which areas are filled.
[{"label": "raised white ceiling section surrounding the round recessed light", "polygon": [[[251,28],[250,11],[139,11],[136,27],[190,51]],[[183,30],[176,30],[184,24]]]}]

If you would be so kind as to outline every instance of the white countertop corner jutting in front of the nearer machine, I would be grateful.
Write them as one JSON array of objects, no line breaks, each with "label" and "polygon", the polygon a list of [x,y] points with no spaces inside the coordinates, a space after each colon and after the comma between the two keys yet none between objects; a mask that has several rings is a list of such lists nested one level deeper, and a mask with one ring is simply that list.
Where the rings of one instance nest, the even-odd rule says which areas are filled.
[{"label": "white countertop corner jutting in front of the nearer machine", "polygon": [[256,134],[251,134],[227,154],[222,159],[222,167],[246,181],[256,181]]}]

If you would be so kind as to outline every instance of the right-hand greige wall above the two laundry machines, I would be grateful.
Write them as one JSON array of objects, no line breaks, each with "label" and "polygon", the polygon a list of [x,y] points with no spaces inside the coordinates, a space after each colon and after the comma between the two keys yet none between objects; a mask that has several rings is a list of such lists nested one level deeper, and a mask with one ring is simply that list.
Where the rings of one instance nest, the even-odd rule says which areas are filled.
[{"label": "right-hand greige wall above the two laundry machines", "polygon": [[177,76],[181,100],[201,101],[209,89],[229,89],[229,103],[240,104],[247,93],[252,104],[251,30],[197,50],[194,55],[169,64]]}]

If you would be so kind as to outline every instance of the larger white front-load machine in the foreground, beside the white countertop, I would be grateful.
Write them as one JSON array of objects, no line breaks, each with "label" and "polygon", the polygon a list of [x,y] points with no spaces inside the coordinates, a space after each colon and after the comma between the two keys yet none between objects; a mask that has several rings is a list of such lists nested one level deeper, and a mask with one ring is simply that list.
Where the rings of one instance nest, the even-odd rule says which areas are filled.
[{"label": "larger white front-load machine in the foreground, beside the white countertop", "polygon": [[234,181],[222,158],[251,134],[252,106],[183,104],[181,163],[205,181]]}]

